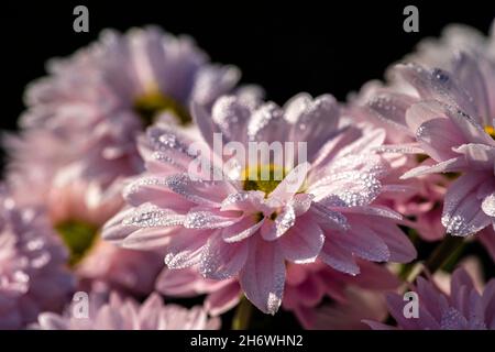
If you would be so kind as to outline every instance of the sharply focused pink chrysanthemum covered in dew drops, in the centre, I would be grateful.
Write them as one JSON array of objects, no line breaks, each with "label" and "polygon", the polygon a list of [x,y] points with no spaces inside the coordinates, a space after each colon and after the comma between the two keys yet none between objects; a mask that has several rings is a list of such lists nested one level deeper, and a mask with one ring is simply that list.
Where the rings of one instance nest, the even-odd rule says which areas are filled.
[{"label": "sharply focused pink chrysanthemum covered in dew drops, in the centre", "polygon": [[[127,187],[131,207],[107,223],[103,237],[128,248],[166,245],[169,268],[197,265],[208,278],[235,276],[246,297],[270,314],[282,302],[287,263],[319,258],[358,275],[355,257],[413,260],[415,249],[396,226],[400,216],[373,204],[389,190],[381,183],[387,165],[372,152],[384,132],[340,129],[339,117],[331,96],[314,100],[300,95],[284,108],[272,102],[253,107],[230,96],[215,103],[212,116],[196,106],[210,153],[222,154],[213,132],[226,142],[240,142],[237,147],[302,142],[296,145],[306,146],[307,162],[292,167],[285,161],[300,161],[299,150],[285,152],[294,158],[286,154],[282,163],[262,156],[246,167],[245,155],[233,153],[219,165],[226,155],[191,152],[198,143],[151,128],[148,144],[155,153],[147,173]],[[191,167],[205,160],[213,178],[222,179],[211,179],[208,166]]]}]

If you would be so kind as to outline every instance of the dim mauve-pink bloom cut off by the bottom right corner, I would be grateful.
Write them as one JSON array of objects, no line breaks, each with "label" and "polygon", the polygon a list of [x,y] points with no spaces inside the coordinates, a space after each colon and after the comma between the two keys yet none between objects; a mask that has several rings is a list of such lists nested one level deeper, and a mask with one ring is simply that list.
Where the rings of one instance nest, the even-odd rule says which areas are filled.
[{"label": "dim mauve-pink bloom cut off by the bottom right corner", "polygon": [[[409,301],[397,294],[387,296],[387,306],[399,329],[406,330],[493,330],[495,329],[495,279],[481,293],[464,268],[451,277],[450,293],[442,292],[435,282],[418,277],[414,292],[418,295],[418,317],[407,318]],[[406,307],[407,308],[407,307]],[[373,329],[394,329],[366,321]]]}]

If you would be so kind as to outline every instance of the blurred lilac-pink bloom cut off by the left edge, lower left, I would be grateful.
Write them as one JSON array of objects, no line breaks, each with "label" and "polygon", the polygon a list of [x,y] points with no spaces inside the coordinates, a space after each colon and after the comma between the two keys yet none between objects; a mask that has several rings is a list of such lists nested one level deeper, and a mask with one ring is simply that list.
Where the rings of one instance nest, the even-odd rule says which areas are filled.
[{"label": "blurred lilac-pink bloom cut off by the left edge, lower left", "polygon": [[67,251],[42,212],[0,196],[0,329],[21,329],[63,308],[75,283]]}]

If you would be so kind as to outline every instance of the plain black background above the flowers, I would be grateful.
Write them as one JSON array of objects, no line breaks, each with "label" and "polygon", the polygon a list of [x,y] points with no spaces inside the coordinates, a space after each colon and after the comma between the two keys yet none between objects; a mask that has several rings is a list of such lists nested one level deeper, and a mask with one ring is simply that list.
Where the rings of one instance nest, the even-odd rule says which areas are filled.
[{"label": "plain black background above the flowers", "polygon": [[[89,9],[89,33],[73,31],[77,4]],[[419,33],[403,31],[407,4],[419,9]],[[263,86],[278,103],[299,91],[342,100],[448,23],[486,33],[495,2],[7,0],[0,13],[0,128],[13,129],[24,86],[44,75],[45,61],[72,54],[105,28],[153,23],[190,34],[212,61],[238,65],[243,81]]]}]

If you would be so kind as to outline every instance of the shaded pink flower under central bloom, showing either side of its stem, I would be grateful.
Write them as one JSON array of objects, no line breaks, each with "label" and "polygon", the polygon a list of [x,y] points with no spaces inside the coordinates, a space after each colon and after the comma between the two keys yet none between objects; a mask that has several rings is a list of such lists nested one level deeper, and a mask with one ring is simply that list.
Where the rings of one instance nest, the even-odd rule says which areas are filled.
[{"label": "shaded pink flower under central bloom, showing either side of its stem", "polygon": [[[363,319],[386,317],[384,292],[396,289],[399,280],[385,267],[359,260],[360,275],[338,272],[322,262],[287,265],[282,307],[293,311],[306,329],[363,329]],[[156,289],[170,297],[207,295],[205,308],[212,316],[237,306],[242,289],[237,278],[213,280],[204,278],[195,268],[164,268]],[[356,304],[360,309],[353,309]],[[363,310],[363,308],[366,308]],[[330,317],[329,311],[336,312]],[[350,314],[342,320],[344,312]]]}]

